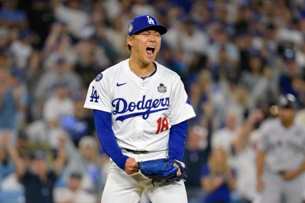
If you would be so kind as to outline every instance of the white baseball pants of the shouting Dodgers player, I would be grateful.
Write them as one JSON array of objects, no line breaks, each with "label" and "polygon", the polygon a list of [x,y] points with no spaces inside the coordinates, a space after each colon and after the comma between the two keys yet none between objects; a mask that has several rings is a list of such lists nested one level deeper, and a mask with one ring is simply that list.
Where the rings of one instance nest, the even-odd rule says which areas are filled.
[{"label": "white baseball pants of the shouting Dodgers player", "polygon": [[[137,162],[167,156],[167,151],[134,154],[123,150],[123,153],[128,157],[135,158]],[[155,182],[154,184],[155,186],[151,179],[140,172],[127,175],[125,171],[110,160],[110,169],[101,203],[138,203],[143,192],[146,192],[153,203],[187,203],[187,193],[183,181]]]}]

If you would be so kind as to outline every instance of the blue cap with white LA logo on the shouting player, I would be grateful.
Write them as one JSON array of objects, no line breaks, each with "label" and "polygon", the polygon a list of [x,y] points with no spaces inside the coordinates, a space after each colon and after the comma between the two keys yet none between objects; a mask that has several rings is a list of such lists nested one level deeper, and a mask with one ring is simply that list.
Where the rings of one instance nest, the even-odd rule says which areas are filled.
[{"label": "blue cap with white LA logo on the shouting player", "polygon": [[138,33],[145,29],[158,31],[161,35],[167,33],[167,28],[161,26],[154,16],[143,15],[135,16],[135,18],[130,21],[130,24],[128,25],[128,36],[132,36],[134,33]]}]

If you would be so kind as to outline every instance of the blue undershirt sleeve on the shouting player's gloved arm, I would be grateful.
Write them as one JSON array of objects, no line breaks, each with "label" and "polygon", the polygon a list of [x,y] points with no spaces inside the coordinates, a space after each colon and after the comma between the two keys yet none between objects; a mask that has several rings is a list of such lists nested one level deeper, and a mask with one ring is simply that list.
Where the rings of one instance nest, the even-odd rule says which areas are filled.
[{"label": "blue undershirt sleeve on the shouting player's gloved arm", "polygon": [[185,154],[185,140],[187,139],[187,123],[185,120],[170,127],[170,140],[168,141],[168,158],[182,161]]}]

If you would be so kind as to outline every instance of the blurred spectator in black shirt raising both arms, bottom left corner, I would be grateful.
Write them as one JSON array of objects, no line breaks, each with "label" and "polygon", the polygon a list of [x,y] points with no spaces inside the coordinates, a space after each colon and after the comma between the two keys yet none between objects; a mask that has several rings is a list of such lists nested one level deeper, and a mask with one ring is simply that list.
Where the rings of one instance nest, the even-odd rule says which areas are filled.
[{"label": "blurred spectator in black shirt raising both arms, bottom left corner", "polygon": [[52,168],[48,165],[45,151],[33,152],[31,162],[26,165],[7,136],[4,136],[4,143],[7,143],[6,150],[14,162],[16,176],[24,185],[25,203],[53,203],[53,188],[66,162],[65,138],[60,137],[60,147]]}]

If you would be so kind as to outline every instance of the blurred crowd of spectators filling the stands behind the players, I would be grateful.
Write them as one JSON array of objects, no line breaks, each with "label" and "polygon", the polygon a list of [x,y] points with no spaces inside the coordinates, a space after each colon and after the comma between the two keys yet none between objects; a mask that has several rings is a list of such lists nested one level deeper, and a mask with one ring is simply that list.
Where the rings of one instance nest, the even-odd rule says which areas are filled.
[{"label": "blurred crowd of spectators filling the stands behind the players", "polygon": [[0,202],[100,202],[108,157],[83,103],[91,80],[129,57],[140,14],[167,26],[156,61],[180,75],[197,114],[189,201],[209,191],[207,163],[226,171],[231,202],[256,201],[259,129],[280,94],[296,97],[305,126],[301,0],[0,1]]}]

